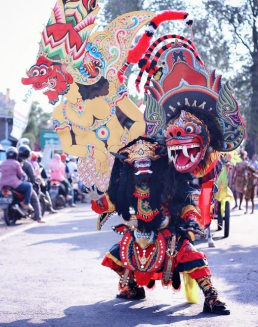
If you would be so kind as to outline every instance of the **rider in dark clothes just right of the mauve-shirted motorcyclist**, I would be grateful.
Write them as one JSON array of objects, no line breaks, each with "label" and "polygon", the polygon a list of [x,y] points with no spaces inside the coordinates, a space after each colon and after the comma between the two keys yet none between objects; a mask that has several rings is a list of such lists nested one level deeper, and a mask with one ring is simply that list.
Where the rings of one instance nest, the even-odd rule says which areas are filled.
[{"label": "rider in dark clothes just right of the mauve-shirted motorcyclist", "polygon": [[[18,161],[22,162],[22,169],[28,176],[28,181],[32,185],[36,182],[36,174],[32,164],[29,162],[31,156],[31,148],[27,144],[20,145],[18,148]],[[32,188],[31,204],[34,209],[34,220],[42,223],[41,207],[37,193]]]}]

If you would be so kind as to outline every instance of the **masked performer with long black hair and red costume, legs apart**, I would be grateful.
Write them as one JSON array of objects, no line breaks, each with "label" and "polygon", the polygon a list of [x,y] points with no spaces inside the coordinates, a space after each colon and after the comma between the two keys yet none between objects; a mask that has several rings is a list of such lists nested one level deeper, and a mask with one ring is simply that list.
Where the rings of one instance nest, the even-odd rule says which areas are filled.
[{"label": "masked performer with long black hair and red costume, legs apart", "polygon": [[203,291],[205,312],[227,315],[230,311],[211,282],[205,254],[192,244],[190,231],[203,233],[194,205],[198,185],[191,174],[178,173],[168,164],[164,149],[138,137],[114,154],[107,192],[100,195],[94,187],[87,191],[93,210],[100,214],[99,229],[114,212],[123,219],[113,227],[123,238],[102,264],[120,276],[118,297],[142,299],[143,286],[151,289],[155,280],[179,289],[181,272]]}]

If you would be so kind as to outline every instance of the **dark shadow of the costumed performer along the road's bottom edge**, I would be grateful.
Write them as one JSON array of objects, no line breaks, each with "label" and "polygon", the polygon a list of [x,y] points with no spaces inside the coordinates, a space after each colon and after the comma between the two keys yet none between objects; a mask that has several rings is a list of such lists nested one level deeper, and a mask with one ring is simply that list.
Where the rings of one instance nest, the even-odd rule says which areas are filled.
[{"label": "dark shadow of the costumed performer along the road's bottom edge", "polygon": [[[139,301],[121,301],[114,299],[100,301],[91,305],[71,306],[65,309],[65,316],[41,320],[40,324],[33,323],[29,319],[18,320],[8,324],[0,324],[1,327],[133,327],[148,324],[150,326],[169,326],[176,322],[182,322],[182,326],[196,319],[217,319],[217,315],[198,313],[193,316],[179,313],[191,306],[182,303],[175,306],[160,304],[145,307],[142,301],[141,307],[134,307]],[[208,326],[208,325],[207,325]]]}]

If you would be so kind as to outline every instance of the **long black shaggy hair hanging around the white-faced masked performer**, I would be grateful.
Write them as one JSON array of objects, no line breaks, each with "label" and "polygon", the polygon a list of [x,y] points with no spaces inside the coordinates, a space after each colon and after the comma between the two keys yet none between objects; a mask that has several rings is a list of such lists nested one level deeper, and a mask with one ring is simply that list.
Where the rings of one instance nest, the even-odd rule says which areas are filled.
[{"label": "long black shaggy hair hanging around the white-faced masked performer", "polygon": [[[156,142],[153,139],[140,136],[121,150],[129,148],[139,139],[150,143]],[[174,230],[177,228],[178,223],[180,223],[179,214],[181,209],[190,204],[188,194],[191,191],[191,187],[189,182],[193,180],[193,177],[190,173],[181,174],[177,172],[173,165],[168,164],[167,155],[162,155],[161,158],[152,161],[150,169],[153,171],[152,174],[148,174],[150,206],[153,210],[159,209],[161,211],[161,204],[165,204],[172,217],[170,229]],[[137,198],[133,196],[133,193],[135,184],[140,183],[141,180],[134,172],[135,168],[132,165],[116,158],[107,190],[111,202],[116,206],[117,213],[122,215],[126,221],[130,219],[129,207],[132,206],[135,210],[137,209]],[[138,229],[147,232],[157,230],[162,220],[161,212],[151,222],[145,223],[142,220],[138,220]]]}]

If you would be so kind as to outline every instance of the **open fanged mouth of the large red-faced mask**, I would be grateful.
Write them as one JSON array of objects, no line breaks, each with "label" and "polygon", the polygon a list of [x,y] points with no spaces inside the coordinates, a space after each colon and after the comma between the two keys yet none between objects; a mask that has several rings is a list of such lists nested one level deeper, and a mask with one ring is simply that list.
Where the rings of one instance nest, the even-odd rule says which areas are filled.
[{"label": "open fanged mouth of the large red-faced mask", "polygon": [[181,172],[189,172],[201,161],[201,145],[199,143],[168,145],[167,153],[169,163]]}]

